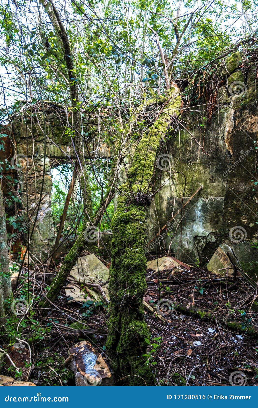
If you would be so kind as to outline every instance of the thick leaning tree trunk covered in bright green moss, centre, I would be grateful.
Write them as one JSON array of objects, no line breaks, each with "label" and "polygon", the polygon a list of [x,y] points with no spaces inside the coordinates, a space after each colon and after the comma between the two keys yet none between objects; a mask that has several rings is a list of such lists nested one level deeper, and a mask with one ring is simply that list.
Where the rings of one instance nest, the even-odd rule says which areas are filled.
[{"label": "thick leaning tree trunk covered in bright green moss, centre", "polygon": [[146,218],[156,154],[181,99],[175,88],[169,91],[154,124],[142,135],[135,149],[132,167],[117,202],[112,220],[112,262],[110,267],[110,316],[106,346],[118,385],[145,386],[152,383],[146,353],[148,328],[142,304],[146,290]]}]

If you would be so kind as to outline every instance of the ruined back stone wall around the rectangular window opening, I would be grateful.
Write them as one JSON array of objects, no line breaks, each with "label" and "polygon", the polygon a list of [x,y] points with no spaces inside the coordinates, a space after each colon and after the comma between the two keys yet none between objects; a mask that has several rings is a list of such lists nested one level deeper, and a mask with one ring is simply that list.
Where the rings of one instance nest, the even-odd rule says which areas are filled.
[{"label": "ruined back stone wall around the rectangular window opening", "polygon": [[[85,140],[85,158],[89,158],[88,149],[92,157],[110,157],[108,144],[97,144],[98,128],[105,125],[105,117],[92,115],[84,131],[87,130]],[[76,154],[72,139],[67,132],[71,124],[69,113],[62,106],[44,102],[22,109],[14,115],[11,122],[11,133],[15,150],[15,166],[20,185],[20,197],[25,217],[23,237],[28,245],[28,231],[31,234],[37,208],[39,211],[34,232],[30,242],[30,251],[34,260],[43,259],[51,253],[54,241],[54,224],[51,208],[52,177],[51,167],[62,163],[75,163]],[[90,134],[90,136],[89,136]],[[41,200],[40,200],[41,193]]]}]

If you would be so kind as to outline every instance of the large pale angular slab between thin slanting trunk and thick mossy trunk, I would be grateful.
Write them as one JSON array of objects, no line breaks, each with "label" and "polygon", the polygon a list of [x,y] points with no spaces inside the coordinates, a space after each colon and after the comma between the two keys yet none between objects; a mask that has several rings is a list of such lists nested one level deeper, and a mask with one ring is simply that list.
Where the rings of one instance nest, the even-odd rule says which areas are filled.
[{"label": "large pale angular slab between thin slanting trunk and thick mossy trunk", "polygon": [[79,257],[76,261],[76,265],[72,268],[70,275],[74,277],[77,282],[89,286],[89,292],[97,301],[101,300],[101,290],[103,290],[105,297],[109,300],[108,284],[101,286],[101,290],[99,290],[99,288],[95,289],[94,287],[91,287],[91,284],[101,285],[109,280],[108,268],[103,265],[95,255],[90,254]]}]

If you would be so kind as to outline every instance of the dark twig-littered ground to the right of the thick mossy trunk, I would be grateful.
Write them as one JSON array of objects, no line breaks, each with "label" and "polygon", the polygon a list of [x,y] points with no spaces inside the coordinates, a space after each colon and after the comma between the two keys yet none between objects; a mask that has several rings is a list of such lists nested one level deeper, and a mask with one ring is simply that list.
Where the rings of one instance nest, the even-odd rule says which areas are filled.
[{"label": "dark twig-littered ground to the right of the thick mossy trunk", "polygon": [[[229,386],[231,374],[243,367],[251,370],[242,370],[246,385],[258,385],[257,337],[250,330],[256,331],[258,324],[251,310],[256,293],[248,284],[237,277],[233,285],[227,273],[218,277],[206,268],[178,271],[171,278],[166,271],[150,277],[147,270],[147,275],[146,293],[153,309],[162,302],[171,306],[163,313],[166,323],[146,314],[151,342],[162,337],[155,357],[159,385]],[[206,319],[204,310],[211,313]],[[227,321],[238,325],[229,327]]]}]

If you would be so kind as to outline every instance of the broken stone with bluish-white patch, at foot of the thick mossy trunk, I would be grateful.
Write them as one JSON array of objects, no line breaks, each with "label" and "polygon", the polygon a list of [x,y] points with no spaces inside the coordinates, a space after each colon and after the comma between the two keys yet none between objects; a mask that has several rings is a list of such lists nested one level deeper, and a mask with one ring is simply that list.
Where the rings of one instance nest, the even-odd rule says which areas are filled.
[{"label": "broken stone with bluish-white patch, at foot of the thick mossy trunk", "polygon": [[83,340],[68,350],[66,363],[75,375],[76,386],[113,386],[112,374],[103,357]]}]

